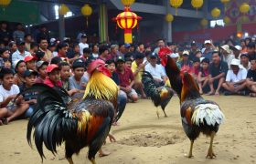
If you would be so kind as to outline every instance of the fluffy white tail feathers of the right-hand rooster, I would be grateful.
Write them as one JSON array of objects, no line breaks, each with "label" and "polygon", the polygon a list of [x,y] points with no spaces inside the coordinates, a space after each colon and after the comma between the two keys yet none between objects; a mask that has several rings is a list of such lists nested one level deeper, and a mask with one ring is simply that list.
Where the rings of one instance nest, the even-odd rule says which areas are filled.
[{"label": "fluffy white tail feathers of the right-hand rooster", "polygon": [[224,122],[224,114],[215,104],[200,104],[195,108],[191,121],[199,126],[206,123],[208,126],[220,125]]}]

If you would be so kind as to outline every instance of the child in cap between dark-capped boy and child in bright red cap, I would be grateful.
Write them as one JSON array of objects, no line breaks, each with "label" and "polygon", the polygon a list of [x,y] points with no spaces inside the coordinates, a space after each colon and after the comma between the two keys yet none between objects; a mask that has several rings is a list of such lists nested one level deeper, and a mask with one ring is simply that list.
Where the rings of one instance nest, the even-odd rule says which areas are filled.
[{"label": "child in cap between dark-capped boy and child in bright red cap", "polygon": [[37,61],[37,80],[36,83],[44,83],[46,77],[48,76],[47,72],[48,62],[47,61]]}]

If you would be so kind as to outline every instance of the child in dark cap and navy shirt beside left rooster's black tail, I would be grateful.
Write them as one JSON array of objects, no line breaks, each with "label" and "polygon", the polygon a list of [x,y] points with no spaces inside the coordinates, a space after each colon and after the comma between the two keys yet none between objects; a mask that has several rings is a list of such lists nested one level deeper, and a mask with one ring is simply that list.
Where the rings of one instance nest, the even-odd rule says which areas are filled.
[{"label": "child in dark cap and navy shirt beside left rooster's black tail", "polygon": [[[32,87],[36,83],[37,72],[31,69],[27,69],[24,73],[25,83],[22,87],[19,87],[20,92],[25,91],[27,88]],[[30,92],[23,95],[24,103],[28,104],[28,108],[25,112],[24,117],[30,118],[33,114],[35,105],[37,104],[37,93]]]}]

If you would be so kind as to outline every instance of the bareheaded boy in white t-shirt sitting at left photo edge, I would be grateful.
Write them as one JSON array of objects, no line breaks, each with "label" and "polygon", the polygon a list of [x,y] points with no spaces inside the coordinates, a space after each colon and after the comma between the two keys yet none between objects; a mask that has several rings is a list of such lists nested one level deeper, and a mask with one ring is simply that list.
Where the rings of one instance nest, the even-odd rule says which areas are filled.
[{"label": "bareheaded boy in white t-shirt sitting at left photo edge", "polygon": [[[6,117],[4,122],[7,124],[25,113],[28,104],[22,103],[22,97],[18,97],[14,102],[16,95],[19,94],[19,88],[14,84],[14,72],[11,69],[2,68],[0,79],[2,80],[2,85],[0,85],[0,107],[2,111],[4,110]],[[2,108],[7,108],[7,113]]]}]

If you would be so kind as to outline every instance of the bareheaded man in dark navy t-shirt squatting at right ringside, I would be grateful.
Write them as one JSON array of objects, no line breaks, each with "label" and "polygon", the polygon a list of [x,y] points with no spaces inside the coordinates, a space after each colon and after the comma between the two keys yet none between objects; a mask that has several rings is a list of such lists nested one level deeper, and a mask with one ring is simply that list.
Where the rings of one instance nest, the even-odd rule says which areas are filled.
[{"label": "bareheaded man in dark navy t-shirt squatting at right ringside", "polygon": [[210,91],[207,95],[219,95],[219,89],[225,81],[229,70],[228,64],[220,60],[219,51],[212,52],[212,63],[209,65],[208,85]]}]

